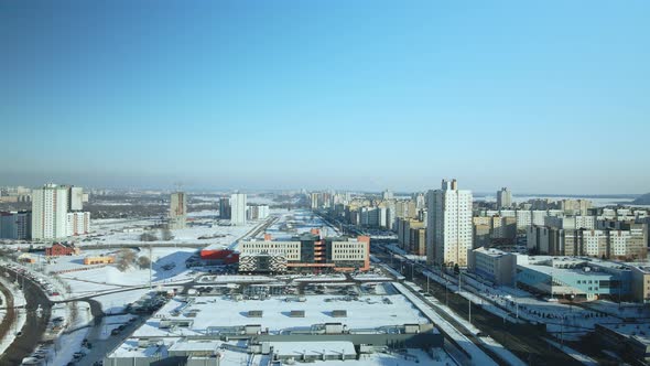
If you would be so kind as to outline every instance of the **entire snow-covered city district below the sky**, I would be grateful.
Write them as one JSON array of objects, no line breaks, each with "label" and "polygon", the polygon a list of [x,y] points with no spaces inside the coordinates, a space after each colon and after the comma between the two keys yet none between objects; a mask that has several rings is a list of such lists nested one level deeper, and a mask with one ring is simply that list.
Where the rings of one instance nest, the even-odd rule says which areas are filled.
[{"label": "entire snow-covered city district below the sky", "polygon": [[633,196],[0,189],[2,365],[646,365]]}]

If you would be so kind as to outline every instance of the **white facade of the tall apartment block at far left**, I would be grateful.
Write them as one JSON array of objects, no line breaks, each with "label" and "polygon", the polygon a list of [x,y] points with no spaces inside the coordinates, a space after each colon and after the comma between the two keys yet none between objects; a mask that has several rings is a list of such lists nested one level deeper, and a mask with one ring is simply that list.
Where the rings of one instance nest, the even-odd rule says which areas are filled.
[{"label": "white facade of the tall apartment block at far left", "polygon": [[46,184],[32,191],[32,238],[59,239],[67,236],[68,187]]}]

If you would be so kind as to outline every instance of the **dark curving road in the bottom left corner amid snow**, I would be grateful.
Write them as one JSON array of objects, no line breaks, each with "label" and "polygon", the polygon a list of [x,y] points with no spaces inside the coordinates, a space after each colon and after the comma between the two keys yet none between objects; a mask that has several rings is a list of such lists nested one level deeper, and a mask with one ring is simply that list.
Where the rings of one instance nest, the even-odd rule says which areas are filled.
[{"label": "dark curving road in the bottom left corner amid snow", "polygon": [[[15,278],[15,272],[8,268],[0,268],[0,276],[9,273],[11,278]],[[21,276],[19,274],[19,279]],[[22,282],[22,279],[21,279]],[[22,335],[4,351],[0,356],[0,365],[20,365],[24,357],[28,357],[34,347],[43,338],[47,323],[50,322],[50,314],[52,311],[52,302],[43,290],[34,282],[25,279],[23,282],[23,292],[26,301],[28,319],[22,329]],[[42,315],[36,315],[36,309],[41,305],[43,310]]]}]

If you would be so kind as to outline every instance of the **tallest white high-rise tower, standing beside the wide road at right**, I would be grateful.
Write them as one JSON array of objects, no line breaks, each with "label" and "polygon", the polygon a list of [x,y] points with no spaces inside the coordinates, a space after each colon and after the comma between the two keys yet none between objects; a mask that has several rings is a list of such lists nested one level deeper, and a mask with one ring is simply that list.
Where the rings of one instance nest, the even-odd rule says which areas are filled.
[{"label": "tallest white high-rise tower, standing beside the wide road at right", "polygon": [[443,180],[441,190],[427,192],[426,201],[426,261],[466,267],[472,249],[472,191],[458,190],[456,180]]}]

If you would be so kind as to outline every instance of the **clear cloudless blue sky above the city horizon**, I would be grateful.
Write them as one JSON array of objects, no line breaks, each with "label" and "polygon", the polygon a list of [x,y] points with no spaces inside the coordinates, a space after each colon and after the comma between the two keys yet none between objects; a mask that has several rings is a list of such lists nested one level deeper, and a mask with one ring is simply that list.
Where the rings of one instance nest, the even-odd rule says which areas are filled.
[{"label": "clear cloudless blue sky above the city horizon", "polygon": [[646,0],[0,0],[0,185],[649,192],[648,19]]}]

